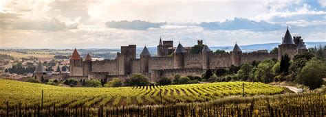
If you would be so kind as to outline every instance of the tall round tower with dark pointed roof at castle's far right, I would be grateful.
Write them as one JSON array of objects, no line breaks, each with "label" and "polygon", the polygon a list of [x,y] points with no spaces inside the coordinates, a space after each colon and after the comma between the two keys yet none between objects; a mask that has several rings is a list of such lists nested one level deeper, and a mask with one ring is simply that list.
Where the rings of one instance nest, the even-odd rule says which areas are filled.
[{"label": "tall round tower with dark pointed roof at castle's far right", "polygon": [[279,44],[279,60],[281,60],[282,55],[285,54],[289,55],[292,59],[296,53],[296,44],[292,39],[289,28],[287,27],[282,43]]}]

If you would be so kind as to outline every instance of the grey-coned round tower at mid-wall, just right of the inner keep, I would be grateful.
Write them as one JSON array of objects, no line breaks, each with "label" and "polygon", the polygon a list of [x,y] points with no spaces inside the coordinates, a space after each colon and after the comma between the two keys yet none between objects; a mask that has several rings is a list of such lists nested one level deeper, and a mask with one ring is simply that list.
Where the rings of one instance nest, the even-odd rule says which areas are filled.
[{"label": "grey-coned round tower at mid-wall, just right of the inner keep", "polygon": [[177,45],[177,49],[174,51],[174,68],[184,68],[184,54],[186,54],[187,51],[182,47],[182,44]]}]

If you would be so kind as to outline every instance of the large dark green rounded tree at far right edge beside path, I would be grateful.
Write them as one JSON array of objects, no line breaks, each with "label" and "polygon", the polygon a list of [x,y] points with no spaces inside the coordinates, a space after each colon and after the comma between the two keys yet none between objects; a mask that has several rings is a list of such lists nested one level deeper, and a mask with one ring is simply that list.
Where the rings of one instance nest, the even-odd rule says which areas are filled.
[{"label": "large dark green rounded tree at far right edge beside path", "polygon": [[308,86],[310,90],[320,88],[326,77],[326,63],[314,57],[306,63],[298,74],[298,83]]}]

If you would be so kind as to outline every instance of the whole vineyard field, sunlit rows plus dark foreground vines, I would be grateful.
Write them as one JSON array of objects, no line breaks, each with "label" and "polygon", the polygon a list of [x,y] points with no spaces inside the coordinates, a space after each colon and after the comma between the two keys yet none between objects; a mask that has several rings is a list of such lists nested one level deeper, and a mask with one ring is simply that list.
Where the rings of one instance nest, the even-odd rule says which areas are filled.
[{"label": "whole vineyard field, sunlit rows plus dark foreground vines", "polygon": [[[243,96],[243,84],[246,97]],[[43,90],[43,101],[42,101]],[[67,88],[0,79],[0,116],[323,115],[320,93],[281,94],[264,83]],[[323,92],[324,93],[324,92]],[[270,94],[278,94],[265,96]],[[305,106],[303,106],[305,105]]]}]

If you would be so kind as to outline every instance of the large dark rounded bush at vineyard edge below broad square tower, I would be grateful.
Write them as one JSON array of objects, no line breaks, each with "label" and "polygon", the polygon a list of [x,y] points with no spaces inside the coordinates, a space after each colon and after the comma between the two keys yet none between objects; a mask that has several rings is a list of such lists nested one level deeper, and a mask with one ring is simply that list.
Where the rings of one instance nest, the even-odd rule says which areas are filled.
[{"label": "large dark rounded bush at vineyard edge below broad square tower", "polygon": [[131,75],[130,79],[124,81],[125,86],[149,86],[147,77],[141,74]]}]

